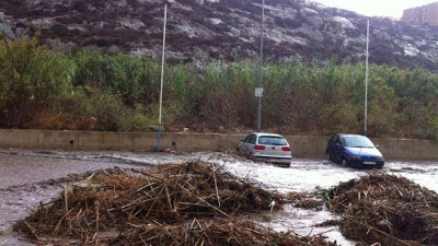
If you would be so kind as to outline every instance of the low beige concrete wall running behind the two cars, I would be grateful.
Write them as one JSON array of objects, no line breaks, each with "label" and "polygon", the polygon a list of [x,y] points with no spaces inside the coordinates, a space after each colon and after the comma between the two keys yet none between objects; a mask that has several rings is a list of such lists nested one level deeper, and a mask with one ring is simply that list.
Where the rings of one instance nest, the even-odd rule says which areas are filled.
[{"label": "low beige concrete wall running behind the two cars", "polygon": [[[234,150],[243,134],[163,133],[162,149],[181,152]],[[157,151],[158,133],[0,129],[0,148]],[[296,157],[324,157],[326,137],[288,136]],[[438,161],[438,141],[373,139],[387,160]]]}]

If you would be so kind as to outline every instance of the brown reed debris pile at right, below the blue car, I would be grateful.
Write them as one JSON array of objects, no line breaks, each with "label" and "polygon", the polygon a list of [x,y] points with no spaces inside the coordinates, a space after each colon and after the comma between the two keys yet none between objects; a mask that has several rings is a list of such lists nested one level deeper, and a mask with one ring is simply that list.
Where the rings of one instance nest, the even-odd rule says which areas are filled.
[{"label": "brown reed debris pile at right, below the blue car", "polygon": [[342,183],[330,192],[342,233],[380,245],[438,245],[438,195],[384,173]]}]

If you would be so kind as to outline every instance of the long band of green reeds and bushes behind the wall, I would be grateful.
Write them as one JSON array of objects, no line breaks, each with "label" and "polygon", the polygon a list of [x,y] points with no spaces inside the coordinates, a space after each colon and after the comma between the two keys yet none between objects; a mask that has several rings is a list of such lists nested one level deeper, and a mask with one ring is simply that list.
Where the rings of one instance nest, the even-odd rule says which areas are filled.
[{"label": "long band of green reeds and bushes behind the wall", "polygon": [[[256,62],[165,68],[164,125],[254,128]],[[362,132],[362,65],[267,63],[263,127]],[[124,54],[62,54],[36,39],[0,43],[0,127],[147,131],[157,125],[160,63]],[[438,74],[371,66],[369,133],[438,139]]]}]

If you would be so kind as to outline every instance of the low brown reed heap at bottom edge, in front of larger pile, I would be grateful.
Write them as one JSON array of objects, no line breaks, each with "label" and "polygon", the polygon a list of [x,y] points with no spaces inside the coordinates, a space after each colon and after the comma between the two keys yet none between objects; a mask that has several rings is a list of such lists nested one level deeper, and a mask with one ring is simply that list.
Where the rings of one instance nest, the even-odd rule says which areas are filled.
[{"label": "low brown reed heap at bottom edge, in front of larger pile", "polygon": [[233,219],[196,220],[176,225],[131,226],[111,245],[284,245],[336,246],[322,236],[302,237],[291,232],[279,234],[250,221]]}]

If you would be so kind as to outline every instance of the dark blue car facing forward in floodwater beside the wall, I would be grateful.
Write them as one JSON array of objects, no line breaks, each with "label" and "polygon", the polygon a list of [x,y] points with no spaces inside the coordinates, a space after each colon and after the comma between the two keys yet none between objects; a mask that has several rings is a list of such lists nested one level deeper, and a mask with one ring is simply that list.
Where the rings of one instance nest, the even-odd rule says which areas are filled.
[{"label": "dark blue car facing forward in floodwater beside the wall", "polygon": [[367,137],[360,134],[336,133],[330,138],[325,151],[328,161],[343,166],[382,168],[382,153]]}]

